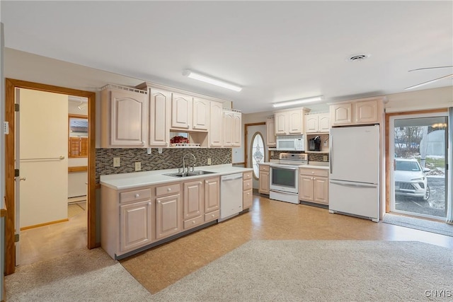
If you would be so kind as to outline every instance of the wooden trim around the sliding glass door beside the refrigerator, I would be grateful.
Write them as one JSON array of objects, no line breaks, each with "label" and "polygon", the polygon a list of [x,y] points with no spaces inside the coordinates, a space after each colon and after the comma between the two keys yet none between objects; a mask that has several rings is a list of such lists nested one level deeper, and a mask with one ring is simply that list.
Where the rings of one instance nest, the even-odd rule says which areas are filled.
[{"label": "wooden trim around the sliding glass door beside the refrigerator", "polygon": [[430,114],[430,113],[448,113],[448,108],[434,109],[434,110],[418,110],[418,111],[404,111],[404,112],[391,112],[385,114],[385,212],[390,212],[390,117],[395,116],[405,116],[405,115],[420,115],[420,114]]}]

